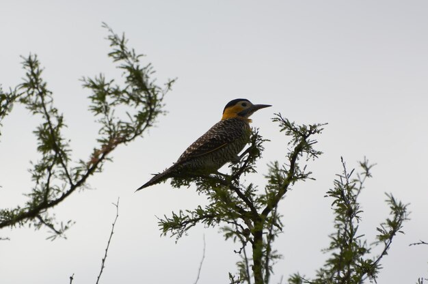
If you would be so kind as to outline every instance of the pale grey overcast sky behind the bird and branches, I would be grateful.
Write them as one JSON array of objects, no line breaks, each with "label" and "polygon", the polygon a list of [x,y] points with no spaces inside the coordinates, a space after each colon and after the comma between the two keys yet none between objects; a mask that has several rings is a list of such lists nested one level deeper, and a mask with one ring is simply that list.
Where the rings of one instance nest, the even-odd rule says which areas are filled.
[{"label": "pale grey overcast sky behind the bird and branches", "polygon": [[[340,173],[364,156],[377,166],[361,195],[362,233],[369,243],[388,216],[384,193],[410,203],[411,220],[382,261],[378,283],[415,283],[428,275],[428,2],[427,1],[1,1],[0,83],[21,83],[20,55],[36,53],[44,79],[64,113],[73,158],[87,159],[97,124],[88,112],[82,76],[120,72],[107,58],[104,21],[147,55],[159,83],[178,77],[165,98],[168,115],[144,139],[113,152],[113,162],[90,179],[94,190],[73,194],[53,210],[75,225],[67,240],[45,240],[46,229],[3,229],[0,283],[95,283],[116,214],[102,283],[193,283],[206,252],[199,283],[228,283],[239,247],[217,229],[196,227],[177,244],[159,237],[157,218],[206,203],[194,188],[169,184],[134,193],[172,165],[208,130],[235,98],[272,104],[253,115],[253,126],[270,139],[267,163],[284,162],[286,142],[273,113],[299,123],[328,122],[318,137],[323,154],[308,166],[316,181],[297,184],[280,205],[284,233],[275,243],[284,258],[272,283],[301,272],[315,276],[333,231],[332,200],[324,198]],[[38,160],[32,130],[38,120],[16,106],[0,141],[0,208],[23,204],[29,193],[30,160]],[[222,169],[226,172],[227,168]],[[375,250],[374,253],[379,253]]]}]

